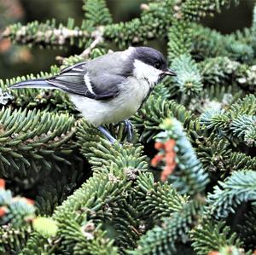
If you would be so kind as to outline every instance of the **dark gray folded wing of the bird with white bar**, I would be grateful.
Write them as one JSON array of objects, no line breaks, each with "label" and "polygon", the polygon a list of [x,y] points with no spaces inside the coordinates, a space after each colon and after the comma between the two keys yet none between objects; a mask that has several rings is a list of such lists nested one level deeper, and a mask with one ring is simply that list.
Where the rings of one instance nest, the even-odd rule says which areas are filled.
[{"label": "dark gray folded wing of the bird with white bar", "polygon": [[[108,100],[118,96],[119,84],[125,83],[126,77],[111,72],[111,68],[108,70],[111,74],[105,70],[96,73],[86,67],[86,63],[67,67],[59,75],[47,79],[47,82],[61,90],[95,100]],[[101,67],[97,70],[101,70]]]}]

